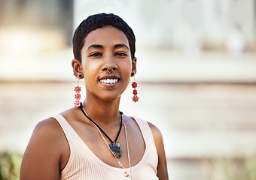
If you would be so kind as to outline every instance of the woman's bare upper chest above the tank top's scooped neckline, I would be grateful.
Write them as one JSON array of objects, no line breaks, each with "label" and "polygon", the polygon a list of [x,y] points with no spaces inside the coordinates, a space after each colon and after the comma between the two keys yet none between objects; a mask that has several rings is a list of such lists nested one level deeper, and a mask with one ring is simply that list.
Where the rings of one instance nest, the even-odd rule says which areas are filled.
[{"label": "woman's bare upper chest above the tank top's scooped neckline", "polygon": [[[128,168],[130,164],[131,166],[136,166],[145,154],[145,139],[136,122],[127,124],[126,129],[124,127],[121,128],[117,138],[117,142],[120,143],[121,156],[117,159],[108,147],[111,141],[101,130],[91,124],[73,123],[72,127],[77,134],[77,143],[81,144],[81,148],[84,148],[84,151],[87,151],[91,157],[96,157],[99,161],[109,166],[120,168],[117,159],[123,164],[124,168]],[[114,141],[118,131],[107,132],[107,135]]]}]

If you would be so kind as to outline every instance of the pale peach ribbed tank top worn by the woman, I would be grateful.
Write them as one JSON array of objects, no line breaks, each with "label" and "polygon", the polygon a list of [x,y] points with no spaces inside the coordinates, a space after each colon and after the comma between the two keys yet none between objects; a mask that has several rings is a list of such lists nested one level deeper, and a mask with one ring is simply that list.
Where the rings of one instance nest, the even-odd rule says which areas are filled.
[{"label": "pale peach ribbed tank top worn by the woman", "polygon": [[[90,148],[78,136],[78,133],[71,127],[62,115],[53,115],[69,142],[70,157],[66,167],[60,173],[60,179],[75,180],[121,180],[130,179],[124,176],[121,168],[109,166],[99,157],[90,151]],[[133,180],[155,180],[157,178],[157,149],[154,145],[154,138],[147,121],[134,118],[142,131],[145,141],[145,153],[142,159],[131,168]],[[129,134],[128,134],[129,136]],[[126,169],[130,172],[130,169]]]}]

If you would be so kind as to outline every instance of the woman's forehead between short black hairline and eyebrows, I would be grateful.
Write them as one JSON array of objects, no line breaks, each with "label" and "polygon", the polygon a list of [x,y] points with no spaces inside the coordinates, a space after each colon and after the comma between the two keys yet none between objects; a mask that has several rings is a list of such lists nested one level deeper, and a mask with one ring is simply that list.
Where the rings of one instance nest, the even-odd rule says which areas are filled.
[{"label": "woman's forehead between short black hairline and eyebrows", "polygon": [[84,39],[84,47],[88,47],[91,44],[114,46],[115,44],[120,43],[126,44],[126,46],[129,47],[129,40],[126,37],[126,34],[111,26],[97,28],[96,30],[91,31]]}]

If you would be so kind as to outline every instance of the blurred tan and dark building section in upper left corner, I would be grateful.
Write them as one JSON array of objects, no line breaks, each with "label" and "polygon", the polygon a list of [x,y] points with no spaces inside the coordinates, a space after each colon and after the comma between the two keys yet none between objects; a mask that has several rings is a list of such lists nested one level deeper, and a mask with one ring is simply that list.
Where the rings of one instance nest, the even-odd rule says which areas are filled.
[{"label": "blurred tan and dark building section in upper left corner", "polygon": [[0,0],[0,49],[8,52],[71,45],[73,1]]}]

